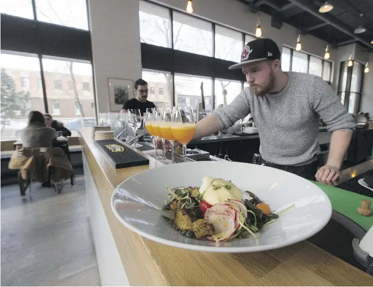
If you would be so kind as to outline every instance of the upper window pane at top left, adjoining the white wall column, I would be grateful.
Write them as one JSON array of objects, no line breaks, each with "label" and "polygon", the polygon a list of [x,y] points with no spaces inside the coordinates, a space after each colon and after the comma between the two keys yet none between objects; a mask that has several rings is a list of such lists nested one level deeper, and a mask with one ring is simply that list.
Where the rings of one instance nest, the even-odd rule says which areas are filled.
[{"label": "upper window pane at top left, adjoining the white wall column", "polygon": [[86,0],[35,0],[39,21],[88,30]]}]

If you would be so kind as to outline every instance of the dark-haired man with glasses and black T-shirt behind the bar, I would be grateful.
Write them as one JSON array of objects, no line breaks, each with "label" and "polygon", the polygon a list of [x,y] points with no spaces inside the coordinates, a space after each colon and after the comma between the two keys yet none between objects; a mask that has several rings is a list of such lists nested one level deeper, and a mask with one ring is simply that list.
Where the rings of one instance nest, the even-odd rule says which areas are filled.
[{"label": "dark-haired man with glasses and black T-shirt behind the bar", "polygon": [[128,109],[139,109],[143,115],[147,108],[155,108],[155,104],[147,100],[148,92],[148,83],[143,79],[138,79],[135,82],[136,97],[124,103],[121,113],[127,112]]}]

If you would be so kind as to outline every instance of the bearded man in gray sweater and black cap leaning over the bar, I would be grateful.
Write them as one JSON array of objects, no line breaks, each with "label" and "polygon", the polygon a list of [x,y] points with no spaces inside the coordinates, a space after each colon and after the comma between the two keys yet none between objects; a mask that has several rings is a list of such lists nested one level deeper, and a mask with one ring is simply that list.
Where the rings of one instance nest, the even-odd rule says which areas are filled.
[{"label": "bearded man in gray sweater and black cap leaning over the bar", "polygon": [[[194,138],[228,128],[251,113],[262,164],[320,182],[336,180],[355,127],[353,118],[320,77],[283,72],[280,56],[270,39],[246,44],[241,63],[229,69],[242,68],[250,87],[199,121]],[[319,117],[332,135],[327,163],[317,171]]]}]

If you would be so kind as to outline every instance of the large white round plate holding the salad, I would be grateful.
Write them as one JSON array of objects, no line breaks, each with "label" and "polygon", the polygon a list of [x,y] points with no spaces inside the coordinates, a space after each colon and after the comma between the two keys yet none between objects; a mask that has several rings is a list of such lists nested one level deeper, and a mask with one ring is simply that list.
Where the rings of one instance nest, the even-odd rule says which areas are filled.
[{"label": "large white round plate holding the salad", "polygon": [[[200,186],[205,176],[231,180],[242,191],[251,191],[272,211],[292,204],[277,222],[263,227],[259,239],[233,239],[215,243],[187,238],[161,216],[169,194],[165,188]],[[114,191],[112,210],[124,226],[150,240],[166,245],[209,252],[255,252],[305,240],[329,221],[331,204],[311,182],[277,169],[236,162],[191,162],[162,166],[139,173]]]}]

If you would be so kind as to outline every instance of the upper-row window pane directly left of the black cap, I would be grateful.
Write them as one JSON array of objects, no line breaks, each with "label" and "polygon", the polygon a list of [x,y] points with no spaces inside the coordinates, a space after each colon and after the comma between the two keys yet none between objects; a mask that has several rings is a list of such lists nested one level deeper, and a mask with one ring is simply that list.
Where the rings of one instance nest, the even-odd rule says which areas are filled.
[{"label": "upper-row window pane directly left of the black cap", "polygon": [[242,34],[221,26],[215,26],[215,58],[240,62]]}]

